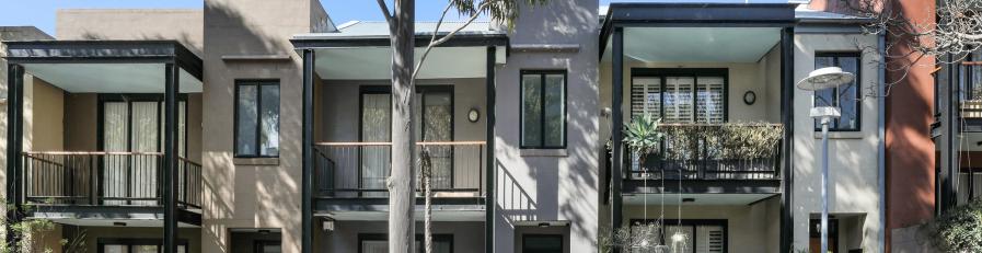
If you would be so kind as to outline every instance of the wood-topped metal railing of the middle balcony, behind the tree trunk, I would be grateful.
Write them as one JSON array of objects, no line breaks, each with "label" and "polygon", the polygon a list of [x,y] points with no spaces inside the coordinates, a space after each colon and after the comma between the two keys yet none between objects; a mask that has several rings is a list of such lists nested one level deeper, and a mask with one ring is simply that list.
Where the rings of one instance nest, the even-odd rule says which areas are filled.
[{"label": "wood-topped metal railing of the middle balcony, behind the tree trunk", "polygon": [[[321,142],[314,150],[315,197],[388,197],[391,142]],[[435,197],[483,196],[484,141],[417,142],[416,152],[417,175],[419,154],[429,153]],[[418,180],[417,189],[421,191]]]}]

